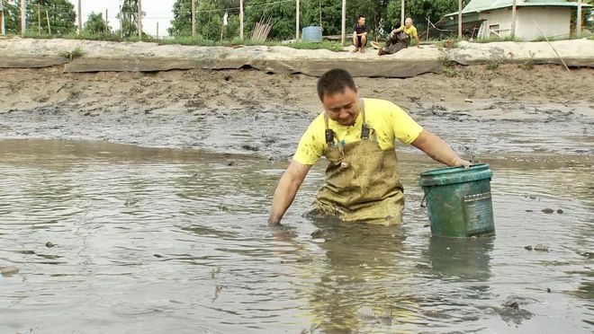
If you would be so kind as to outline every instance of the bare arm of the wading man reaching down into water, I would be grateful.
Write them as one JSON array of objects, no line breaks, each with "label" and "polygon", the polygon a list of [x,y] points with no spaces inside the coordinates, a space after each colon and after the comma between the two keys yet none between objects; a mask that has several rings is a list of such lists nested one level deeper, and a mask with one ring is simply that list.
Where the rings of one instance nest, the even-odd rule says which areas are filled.
[{"label": "bare arm of the wading man reaching down into water", "polygon": [[278,181],[278,185],[276,186],[275,198],[273,198],[273,204],[270,208],[268,224],[281,224],[284,213],[291,207],[297,190],[301,187],[310,169],[311,164],[297,163],[294,160],[289,164],[289,167],[284,171],[281,180]]}]

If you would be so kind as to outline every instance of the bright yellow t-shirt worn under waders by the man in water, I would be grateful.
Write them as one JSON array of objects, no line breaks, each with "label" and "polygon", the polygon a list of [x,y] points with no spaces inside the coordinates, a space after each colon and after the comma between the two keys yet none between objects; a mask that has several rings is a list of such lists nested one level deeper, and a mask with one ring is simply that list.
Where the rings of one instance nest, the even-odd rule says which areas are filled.
[{"label": "bright yellow t-shirt worn under waders by the man in water", "polygon": [[[404,144],[414,142],[420,135],[423,127],[410,118],[406,111],[391,101],[377,99],[363,99],[365,101],[365,122],[374,128],[378,145],[381,149],[394,147],[394,140],[398,139]],[[361,140],[363,115],[359,113],[354,125],[341,126],[338,122],[329,119],[329,127],[334,130],[336,138],[343,145]],[[302,136],[293,160],[302,164],[315,164],[320,160],[328,147],[326,144],[326,124],[322,112],[314,119],[310,127]]]}]

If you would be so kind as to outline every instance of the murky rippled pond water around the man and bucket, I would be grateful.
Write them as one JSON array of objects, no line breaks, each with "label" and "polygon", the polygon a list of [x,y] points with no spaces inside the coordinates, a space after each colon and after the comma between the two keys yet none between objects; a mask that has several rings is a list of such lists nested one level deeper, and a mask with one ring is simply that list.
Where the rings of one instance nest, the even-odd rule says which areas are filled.
[{"label": "murky rippled pond water around the man and bucket", "polygon": [[402,226],[303,218],[318,166],[270,228],[285,163],[0,142],[0,268],[19,269],[0,332],[591,332],[589,159],[489,161],[497,236],[452,240],[419,207],[419,155],[401,155]]}]

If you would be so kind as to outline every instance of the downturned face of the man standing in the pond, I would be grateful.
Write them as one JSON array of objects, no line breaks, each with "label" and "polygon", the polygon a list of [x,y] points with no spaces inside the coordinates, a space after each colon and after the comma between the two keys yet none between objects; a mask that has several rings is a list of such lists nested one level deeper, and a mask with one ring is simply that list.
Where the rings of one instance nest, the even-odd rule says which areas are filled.
[{"label": "downturned face of the man standing in the pond", "polygon": [[343,92],[324,94],[322,105],[329,119],[345,127],[355,124],[359,115],[359,95],[348,87]]}]

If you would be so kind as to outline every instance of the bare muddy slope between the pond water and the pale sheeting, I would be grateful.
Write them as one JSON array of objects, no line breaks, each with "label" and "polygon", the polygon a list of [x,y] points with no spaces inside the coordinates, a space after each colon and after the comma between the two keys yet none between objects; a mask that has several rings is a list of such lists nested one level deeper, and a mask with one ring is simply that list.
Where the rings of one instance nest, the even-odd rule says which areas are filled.
[{"label": "bare muddy slope between the pond water and the pale sheeting", "polygon": [[[455,77],[357,78],[466,155],[594,152],[594,75],[461,66]],[[285,159],[321,111],[316,78],[256,70],[63,74],[0,69],[0,138],[66,138]],[[563,130],[562,130],[563,129]]]}]

